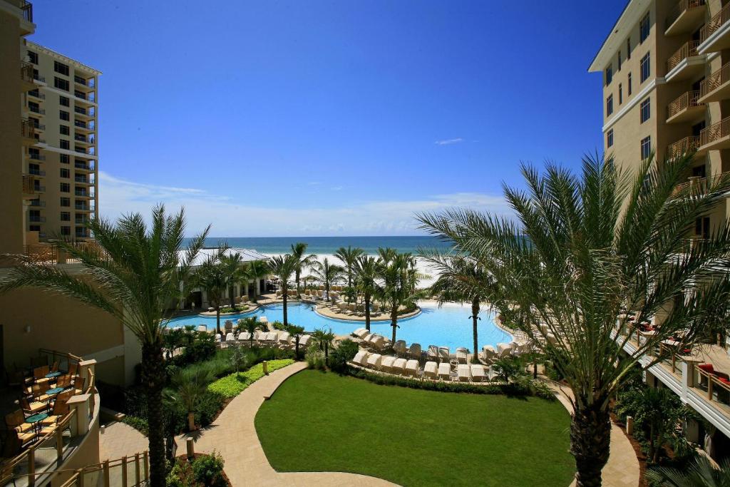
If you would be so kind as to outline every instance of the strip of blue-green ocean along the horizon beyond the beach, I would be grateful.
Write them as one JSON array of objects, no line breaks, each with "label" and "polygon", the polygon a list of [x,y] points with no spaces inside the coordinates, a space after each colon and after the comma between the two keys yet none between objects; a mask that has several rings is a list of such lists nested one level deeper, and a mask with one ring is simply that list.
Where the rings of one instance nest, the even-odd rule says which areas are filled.
[{"label": "strip of blue-green ocean along the horizon beyond the beach", "polygon": [[[296,242],[307,243],[307,252],[319,255],[335,253],[338,248],[351,245],[359,247],[369,255],[377,255],[379,247],[390,247],[399,252],[410,252],[414,255],[419,248],[448,250],[450,245],[436,237],[209,237],[206,247],[216,247],[227,243],[229,247],[248,248],[266,254],[291,252],[291,245]],[[185,242],[187,245],[187,242]]]}]

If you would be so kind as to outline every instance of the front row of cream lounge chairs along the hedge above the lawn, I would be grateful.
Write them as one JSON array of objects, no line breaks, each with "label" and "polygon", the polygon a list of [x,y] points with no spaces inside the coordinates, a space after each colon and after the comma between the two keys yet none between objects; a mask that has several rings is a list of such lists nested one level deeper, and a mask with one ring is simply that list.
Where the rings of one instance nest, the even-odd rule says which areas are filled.
[{"label": "front row of cream lounge chairs along the hedge above the lawn", "polygon": [[370,353],[367,350],[360,350],[353,358],[353,364],[404,377],[458,380],[459,382],[484,382],[488,380],[488,371],[482,364],[457,364],[454,367],[449,361],[442,361],[440,364],[435,361],[426,361],[423,370],[421,370],[419,362],[415,358],[407,360],[402,357]]}]

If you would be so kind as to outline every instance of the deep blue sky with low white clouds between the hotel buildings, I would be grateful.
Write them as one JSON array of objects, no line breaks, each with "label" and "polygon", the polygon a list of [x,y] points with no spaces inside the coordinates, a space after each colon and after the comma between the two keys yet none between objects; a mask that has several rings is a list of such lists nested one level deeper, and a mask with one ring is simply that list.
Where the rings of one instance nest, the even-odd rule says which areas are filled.
[{"label": "deep blue sky with low white clouds between the hotel buildings", "polygon": [[625,0],[35,0],[34,42],[101,70],[101,214],[190,233],[415,234],[507,212],[518,164],[602,146],[587,66]]}]

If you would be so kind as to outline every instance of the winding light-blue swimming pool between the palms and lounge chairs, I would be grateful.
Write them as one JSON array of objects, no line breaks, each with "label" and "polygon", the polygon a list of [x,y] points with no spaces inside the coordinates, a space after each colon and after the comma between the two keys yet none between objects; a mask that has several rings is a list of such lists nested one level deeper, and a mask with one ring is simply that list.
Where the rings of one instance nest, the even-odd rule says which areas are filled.
[{"label": "winding light-blue swimming pool between the palms and lounge chairs", "polygon": [[[289,323],[304,326],[307,331],[317,328],[331,329],[335,334],[347,335],[355,329],[364,327],[362,321],[340,321],[318,315],[312,310],[312,304],[289,304],[287,315]],[[472,350],[472,315],[470,306],[459,304],[444,304],[438,307],[436,304],[420,304],[422,312],[413,318],[399,320],[400,328],[396,333],[397,340],[405,340],[409,345],[413,342],[420,343],[425,350],[429,345],[449,347],[454,350],[456,347],[465,347]],[[233,320],[245,316],[266,316],[271,321],[283,321],[283,304],[270,304],[260,307],[254,312],[242,313],[239,315],[226,315],[220,317],[220,326],[226,320]],[[493,313],[483,311],[482,318],[477,325],[479,335],[479,348],[484,345],[496,345],[499,342],[510,342],[512,336],[494,324]],[[205,325],[209,330],[215,329],[215,316],[185,316],[174,318],[169,326]],[[373,333],[382,334],[388,339],[391,337],[392,328],[390,321],[372,321],[370,329]]]}]

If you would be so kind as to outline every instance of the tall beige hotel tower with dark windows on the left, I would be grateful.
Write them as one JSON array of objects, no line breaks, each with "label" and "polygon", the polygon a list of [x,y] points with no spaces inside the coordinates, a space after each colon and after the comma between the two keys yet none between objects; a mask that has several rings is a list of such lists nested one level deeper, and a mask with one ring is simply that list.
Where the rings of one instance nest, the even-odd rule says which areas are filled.
[{"label": "tall beige hotel tower with dark windows on the left", "polygon": [[99,74],[30,42],[31,4],[0,0],[0,252],[84,240],[98,215]]}]

